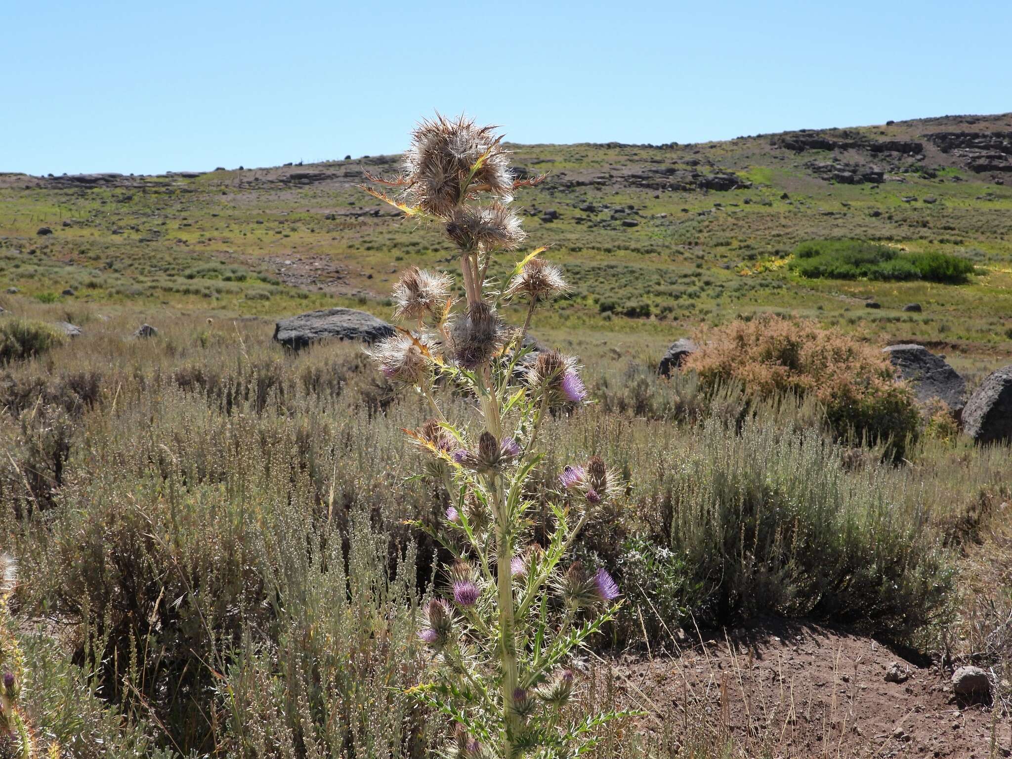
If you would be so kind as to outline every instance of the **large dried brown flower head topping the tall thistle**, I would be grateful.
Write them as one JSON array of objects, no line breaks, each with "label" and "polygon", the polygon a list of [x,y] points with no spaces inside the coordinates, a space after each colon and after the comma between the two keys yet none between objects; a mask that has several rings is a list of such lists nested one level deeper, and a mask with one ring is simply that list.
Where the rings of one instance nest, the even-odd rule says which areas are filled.
[{"label": "large dried brown flower head topping the tall thistle", "polygon": [[445,217],[465,199],[461,190],[470,178],[468,194],[486,191],[508,200],[513,175],[501,140],[495,126],[476,126],[463,115],[449,119],[437,113],[423,120],[404,155],[406,198],[428,214]]}]

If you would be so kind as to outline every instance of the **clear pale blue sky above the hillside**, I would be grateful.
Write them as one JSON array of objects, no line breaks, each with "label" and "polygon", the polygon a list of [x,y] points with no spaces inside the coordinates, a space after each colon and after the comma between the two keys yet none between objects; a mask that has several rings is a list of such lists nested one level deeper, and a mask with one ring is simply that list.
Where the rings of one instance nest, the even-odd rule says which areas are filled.
[{"label": "clear pale blue sky above the hillside", "polygon": [[521,143],[696,142],[1012,110],[1012,2],[0,0],[0,171],[402,150],[434,108]]}]

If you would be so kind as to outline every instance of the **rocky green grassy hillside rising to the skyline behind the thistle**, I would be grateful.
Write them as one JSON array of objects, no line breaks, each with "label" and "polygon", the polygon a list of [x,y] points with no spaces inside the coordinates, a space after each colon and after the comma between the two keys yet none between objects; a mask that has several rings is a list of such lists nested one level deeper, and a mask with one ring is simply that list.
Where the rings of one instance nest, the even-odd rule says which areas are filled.
[{"label": "rocky green grassy hillside rising to the skyline behind the thistle", "polygon": [[[522,171],[549,175],[518,198],[531,245],[552,245],[575,284],[534,329],[659,353],[700,324],[773,309],[1001,363],[1012,354],[1010,130],[1004,114],[695,145],[512,146]],[[393,174],[397,159],[0,175],[0,279],[71,314],[383,314],[396,272],[445,263],[451,246],[359,190],[363,169]],[[787,265],[797,244],[826,238],[948,253],[976,274],[959,286],[844,281]],[[920,314],[902,312],[912,302]]]}]

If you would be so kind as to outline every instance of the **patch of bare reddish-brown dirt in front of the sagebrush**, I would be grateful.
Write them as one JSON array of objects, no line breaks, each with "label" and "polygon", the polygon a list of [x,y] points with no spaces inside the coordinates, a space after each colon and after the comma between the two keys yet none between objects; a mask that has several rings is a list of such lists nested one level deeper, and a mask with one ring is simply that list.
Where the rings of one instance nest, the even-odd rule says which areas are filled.
[{"label": "patch of bare reddish-brown dirt in front of the sagebrush", "polygon": [[956,698],[951,671],[839,627],[766,619],[623,659],[615,674],[630,703],[706,715],[748,756],[1012,756],[1009,715]]}]

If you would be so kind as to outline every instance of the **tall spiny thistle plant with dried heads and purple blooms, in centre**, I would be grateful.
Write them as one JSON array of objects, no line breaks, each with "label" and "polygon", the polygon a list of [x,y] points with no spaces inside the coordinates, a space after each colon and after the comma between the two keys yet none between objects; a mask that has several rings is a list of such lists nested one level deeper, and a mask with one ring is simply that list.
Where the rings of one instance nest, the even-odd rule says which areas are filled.
[{"label": "tall spiny thistle plant with dried heads and purple blooms, in centre", "polygon": [[[441,483],[449,503],[437,527],[417,523],[453,561],[421,621],[435,679],[409,692],[452,722],[445,756],[577,756],[594,746],[600,726],[628,713],[587,713],[577,698],[576,655],[621,601],[604,568],[570,561],[584,524],[620,488],[594,456],[567,467],[552,492],[535,492],[544,416],[576,413],[587,400],[575,358],[524,339],[535,309],[568,285],[538,257],[545,248],[524,255],[504,281],[490,274],[493,259],[526,238],[510,208],[514,191],[543,177],[514,177],[495,128],[439,115],[412,134],[400,176],[366,176],[399,190],[389,196],[363,185],[374,197],[442,226],[458,249],[463,290],[457,303],[448,273],[409,268],[393,290],[402,326],[370,351],[384,374],[430,409],[431,419],[405,432],[426,459],[419,476]],[[501,317],[508,303],[525,310],[522,326]],[[472,400],[472,419],[444,413],[437,380]],[[543,547],[528,518],[538,500],[553,517]]]}]

